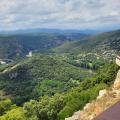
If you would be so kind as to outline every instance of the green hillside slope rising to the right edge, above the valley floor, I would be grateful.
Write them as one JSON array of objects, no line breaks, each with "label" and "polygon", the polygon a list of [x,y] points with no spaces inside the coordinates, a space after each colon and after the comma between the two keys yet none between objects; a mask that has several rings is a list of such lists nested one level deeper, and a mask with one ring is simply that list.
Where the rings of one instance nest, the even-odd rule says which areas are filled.
[{"label": "green hillside slope rising to the right edge, above the valley floor", "polygon": [[88,36],[80,41],[67,42],[53,50],[56,53],[88,53],[110,55],[120,51],[120,30]]}]

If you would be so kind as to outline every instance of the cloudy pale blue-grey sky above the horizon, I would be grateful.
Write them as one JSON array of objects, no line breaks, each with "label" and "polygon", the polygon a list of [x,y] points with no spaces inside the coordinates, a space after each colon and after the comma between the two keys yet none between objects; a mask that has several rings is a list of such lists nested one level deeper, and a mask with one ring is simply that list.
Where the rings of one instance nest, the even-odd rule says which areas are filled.
[{"label": "cloudy pale blue-grey sky above the horizon", "polygon": [[118,29],[120,0],[0,0],[0,30]]}]

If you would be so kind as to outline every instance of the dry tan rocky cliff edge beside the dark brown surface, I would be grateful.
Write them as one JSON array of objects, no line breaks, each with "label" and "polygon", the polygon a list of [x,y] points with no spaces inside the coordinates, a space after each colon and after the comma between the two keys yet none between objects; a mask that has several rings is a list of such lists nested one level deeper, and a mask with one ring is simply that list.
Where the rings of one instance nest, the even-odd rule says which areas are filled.
[{"label": "dry tan rocky cliff edge beside the dark brown surface", "polygon": [[117,73],[116,80],[109,90],[101,90],[96,100],[86,104],[83,110],[74,113],[65,120],[93,120],[100,113],[120,100],[120,70]]}]

